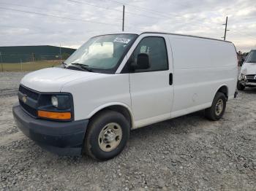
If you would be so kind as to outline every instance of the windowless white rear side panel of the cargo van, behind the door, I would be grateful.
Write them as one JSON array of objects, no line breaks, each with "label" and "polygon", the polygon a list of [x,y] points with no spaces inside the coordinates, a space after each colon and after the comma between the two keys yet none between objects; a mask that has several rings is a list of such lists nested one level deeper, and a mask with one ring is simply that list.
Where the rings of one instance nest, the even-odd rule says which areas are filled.
[{"label": "windowless white rear side panel of the cargo van, behind the door", "polygon": [[174,102],[172,117],[206,109],[222,85],[234,96],[236,50],[232,43],[169,35],[173,50]]}]

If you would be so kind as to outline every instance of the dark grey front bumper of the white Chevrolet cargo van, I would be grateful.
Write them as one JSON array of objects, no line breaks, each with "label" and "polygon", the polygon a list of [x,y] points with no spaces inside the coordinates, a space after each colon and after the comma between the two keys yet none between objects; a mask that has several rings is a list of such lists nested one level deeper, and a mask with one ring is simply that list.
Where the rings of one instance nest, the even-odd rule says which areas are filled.
[{"label": "dark grey front bumper of the white Chevrolet cargo van", "polygon": [[18,128],[40,147],[58,155],[81,155],[89,120],[39,120],[26,114],[19,104],[12,107],[12,114]]}]

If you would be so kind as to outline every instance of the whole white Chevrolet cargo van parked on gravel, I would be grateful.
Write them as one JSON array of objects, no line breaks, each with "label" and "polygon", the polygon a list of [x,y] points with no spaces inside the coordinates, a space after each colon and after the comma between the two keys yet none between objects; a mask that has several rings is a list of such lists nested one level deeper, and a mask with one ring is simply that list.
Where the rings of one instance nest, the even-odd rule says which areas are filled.
[{"label": "whole white Chevrolet cargo van parked on gravel", "polygon": [[27,74],[13,115],[20,130],[60,155],[118,155],[129,131],[206,109],[219,120],[236,97],[231,42],[145,32],[95,36],[64,67]]}]

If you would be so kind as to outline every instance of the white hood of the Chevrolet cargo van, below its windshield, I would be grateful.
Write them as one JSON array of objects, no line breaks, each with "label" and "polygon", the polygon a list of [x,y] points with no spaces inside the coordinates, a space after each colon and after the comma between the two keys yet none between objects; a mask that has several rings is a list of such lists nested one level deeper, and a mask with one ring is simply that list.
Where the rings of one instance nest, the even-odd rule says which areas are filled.
[{"label": "white hood of the Chevrolet cargo van, below its windshield", "polygon": [[33,71],[21,79],[21,84],[39,92],[60,92],[61,87],[75,79],[90,78],[102,74],[61,68]]}]

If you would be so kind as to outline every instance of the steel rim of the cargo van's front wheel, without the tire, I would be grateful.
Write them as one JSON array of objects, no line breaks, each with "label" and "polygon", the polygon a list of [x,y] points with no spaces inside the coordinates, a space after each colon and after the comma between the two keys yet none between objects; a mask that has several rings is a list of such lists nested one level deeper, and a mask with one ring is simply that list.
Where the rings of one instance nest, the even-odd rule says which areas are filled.
[{"label": "steel rim of the cargo van's front wheel, without the tire", "polygon": [[102,151],[110,152],[116,149],[122,138],[121,126],[116,122],[108,123],[99,133],[98,144]]}]

